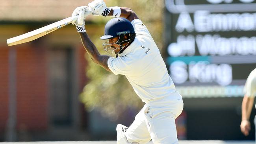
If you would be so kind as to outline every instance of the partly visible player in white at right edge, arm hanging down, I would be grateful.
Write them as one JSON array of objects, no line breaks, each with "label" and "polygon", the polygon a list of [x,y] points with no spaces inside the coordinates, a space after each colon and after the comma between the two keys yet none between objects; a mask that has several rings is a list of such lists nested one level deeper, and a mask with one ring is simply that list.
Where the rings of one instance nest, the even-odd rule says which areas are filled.
[{"label": "partly visible player in white at right edge, arm hanging down", "polygon": [[[250,114],[256,96],[256,68],[250,72],[245,83],[245,96],[242,102],[242,120],[240,124],[241,132],[247,136],[250,131]],[[256,107],[256,105],[255,105]],[[254,118],[254,124],[256,126],[256,118]]]}]

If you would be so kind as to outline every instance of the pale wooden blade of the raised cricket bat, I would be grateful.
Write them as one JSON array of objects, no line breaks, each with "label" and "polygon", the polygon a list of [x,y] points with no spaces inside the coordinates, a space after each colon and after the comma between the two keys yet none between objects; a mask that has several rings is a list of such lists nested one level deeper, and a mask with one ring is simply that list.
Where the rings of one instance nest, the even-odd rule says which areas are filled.
[{"label": "pale wooden blade of the raised cricket bat", "polygon": [[22,44],[25,42],[30,42],[35,39],[38,39],[39,37],[42,37],[44,35],[47,35],[48,33],[51,33],[52,31],[58,30],[59,28],[62,28],[63,26],[66,26],[72,22],[72,18],[68,17],[63,20],[59,20],[58,22],[54,22],[52,24],[49,24],[47,26],[44,26],[42,28],[39,28],[37,30],[30,31],[28,33],[24,33],[22,35],[19,35],[17,37],[13,37],[10,39],[7,39],[8,46],[13,46],[16,44]]}]

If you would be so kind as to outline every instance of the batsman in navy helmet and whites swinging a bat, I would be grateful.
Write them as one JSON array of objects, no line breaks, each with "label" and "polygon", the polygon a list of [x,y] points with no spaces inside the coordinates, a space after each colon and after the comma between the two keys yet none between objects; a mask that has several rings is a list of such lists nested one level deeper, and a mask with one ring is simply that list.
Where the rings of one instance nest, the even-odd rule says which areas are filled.
[{"label": "batsman in navy helmet and whites swinging a bat", "polygon": [[[85,30],[87,15],[114,17],[105,26],[101,55]],[[78,18],[76,18],[78,16]],[[178,144],[175,119],[183,109],[160,51],[147,27],[132,9],[107,7],[103,0],[77,7],[72,13],[83,46],[91,59],[113,74],[126,76],[135,93],[145,103],[131,126],[117,125],[117,144]],[[81,24],[82,22],[82,24]]]}]

